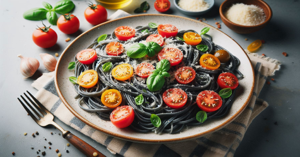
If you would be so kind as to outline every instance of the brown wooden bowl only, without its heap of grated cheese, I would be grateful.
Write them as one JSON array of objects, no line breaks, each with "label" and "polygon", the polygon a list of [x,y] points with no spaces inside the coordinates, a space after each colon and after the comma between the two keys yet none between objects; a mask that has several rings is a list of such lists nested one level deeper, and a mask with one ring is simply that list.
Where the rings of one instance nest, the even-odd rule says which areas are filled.
[{"label": "brown wooden bowl only, without its heap of grated cheese", "polygon": [[[246,5],[256,5],[260,8],[262,8],[266,15],[265,22],[263,22],[259,25],[255,25],[255,26],[244,26],[244,25],[239,25],[239,24],[229,21],[224,16],[223,13],[226,11],[226,9],[228,9],[233,4],[236,4],[236,3],[243,3]],[[249,0],[226,0],[221,4],[219,12],[220,12],[220,17],[221,17],[221,20],[223,21],[223,23],[229,29],[231,29],[232,31],[239,33],[239,34],[249,34],[249,33],[256,32],[256,31],[264,28],[272,18],[272,10],[271,10],[270,6],[262,0],[252,0],[252,1],[249,1]]]}]

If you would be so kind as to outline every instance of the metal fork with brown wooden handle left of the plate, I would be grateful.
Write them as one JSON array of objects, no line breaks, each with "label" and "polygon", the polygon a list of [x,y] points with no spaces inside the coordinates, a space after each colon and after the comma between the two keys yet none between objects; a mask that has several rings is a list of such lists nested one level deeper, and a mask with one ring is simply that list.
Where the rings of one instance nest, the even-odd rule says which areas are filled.
[{"label": "metal fork with brown wooden handle left of the plate", "polygon": [[[27,106],[29,106],[29,108],[39,117],[39,119],[37,119],[35,117],[35,115],[28,109],[28,107],[23,103],[23,101],[21,101],[20,98],[18,98],[18,100],[20,101],[20,103],[22,104],[22,106],[25,108],[25,110],[27,111],[27,113],[31,116],[31,118],[33,120],[35,120],[35,122],[38,123],[38,125],[41,125],[41,126],[53,125],[59,131],[61,131],[62,137],[64,137],[66,140],[68,140],[73,146],[75,146],[84,155],[86,155],[88,157],[89,156],[91,156],[91,157],[94,157],[94,156],[105,157],[105,155],[103,155],[97,149],[95,149],[94,147],[92,147],[91,145],[89,145],[88,143],[86,143],[85,141],[81,140],[79,137],[75,136],[74,134],[70,133],[70,131],[66,131],[63,128],[61,128],[61,126],[59,126],[58,124],[56,124],[53,121],[54,116],[40,103],[40,101],[38,101],[28,91],[26,91],[26,92],[35,101],[35,103],[34,103],[32,101],[32,99],[30,99],[29,96],[27,96],[26,93],[24,93],[24,95],[30,101],[30,103],[33,105],[33,107],[32,107],[31,104],[29,104],[29,102],[22,95],[21,95],[21,98],[23,99],[23,101],[25,101],[25,103],[27,104]],[[96,155],[96,153],[98,155]]]}]

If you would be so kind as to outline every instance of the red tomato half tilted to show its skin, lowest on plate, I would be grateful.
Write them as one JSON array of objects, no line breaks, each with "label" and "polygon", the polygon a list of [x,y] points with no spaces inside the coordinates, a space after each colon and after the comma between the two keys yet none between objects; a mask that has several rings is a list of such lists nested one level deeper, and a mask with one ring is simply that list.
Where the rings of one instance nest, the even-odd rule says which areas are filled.
[{"label": "red tomato half tilted to show its skin, lowest on plate", "polygon": [[110,113],[110,121],[117,128],[126,128],[134,120],[134,111],[131,106],[119,106]]}]

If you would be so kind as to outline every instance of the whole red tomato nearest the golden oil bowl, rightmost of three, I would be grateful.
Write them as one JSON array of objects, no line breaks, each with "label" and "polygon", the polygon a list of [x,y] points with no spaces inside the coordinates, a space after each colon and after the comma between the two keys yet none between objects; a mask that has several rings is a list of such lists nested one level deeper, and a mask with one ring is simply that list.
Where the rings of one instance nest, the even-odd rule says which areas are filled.
[{"label": "whole red tomato nearest the golden oil bowl, rightmost of three", "polygon": [[101,5],[89,4],[84,11],[84,17],[92,25],[99,25],[106,21],[107,11]]}]

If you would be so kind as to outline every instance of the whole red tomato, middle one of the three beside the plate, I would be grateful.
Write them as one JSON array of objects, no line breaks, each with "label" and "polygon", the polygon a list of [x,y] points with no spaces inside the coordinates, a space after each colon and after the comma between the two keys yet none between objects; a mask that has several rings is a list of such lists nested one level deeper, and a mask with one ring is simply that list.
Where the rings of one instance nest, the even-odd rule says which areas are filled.
[{"label": "whole red tomato, middle one of the three beside the plate", "polygon": [[57,27],[58,29],[65,33],[65,34],[73,34],[78,31],[79,29],[79,20],[76,16],[74,15],[68,15],[65,14],[61,15],[61,17],[58,18],[57,20]]}]

